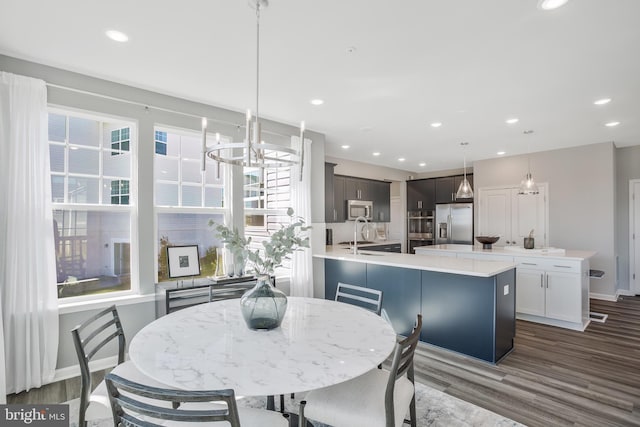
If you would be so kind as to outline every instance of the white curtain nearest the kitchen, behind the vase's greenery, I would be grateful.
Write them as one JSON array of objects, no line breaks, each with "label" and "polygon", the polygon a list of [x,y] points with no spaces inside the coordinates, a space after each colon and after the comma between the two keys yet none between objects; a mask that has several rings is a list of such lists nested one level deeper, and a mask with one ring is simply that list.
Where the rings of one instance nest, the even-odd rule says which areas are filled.
[{"label": "white curtain nearest the kitchen, behind the vase's greenery", "polygon": [[[300,150],[298,137],[291,138],[292,146]],[[291,168],[291,199],[295,215],[311,225],[311,141],[304,140],[302,180],[300,165]],[[324,195],[322,196],[324,197]],[[311,231],[309,240],[311,240]],[[313,297],[313,258],[311,248],[295,251],[291,260],[291,284],[289,293],[294,297]]]}]

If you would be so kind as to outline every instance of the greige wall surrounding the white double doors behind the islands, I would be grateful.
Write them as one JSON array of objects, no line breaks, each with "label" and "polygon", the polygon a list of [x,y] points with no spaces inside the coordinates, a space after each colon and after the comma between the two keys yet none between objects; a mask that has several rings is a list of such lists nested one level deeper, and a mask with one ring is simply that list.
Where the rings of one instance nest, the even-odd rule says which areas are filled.
[{"label": "greige wall surrounding the white double doors behind the islands", "polygon": [[[591,293],[612,298],[616,294],[613,143],[532,153],[530,158],[534,180],[549,184],[549,245],[596,251],[591,268],[604,270],[605,276],[591,280]],[[527,172],[527,156],[479,160],[473,168],[476,191],[519,185]]]}]

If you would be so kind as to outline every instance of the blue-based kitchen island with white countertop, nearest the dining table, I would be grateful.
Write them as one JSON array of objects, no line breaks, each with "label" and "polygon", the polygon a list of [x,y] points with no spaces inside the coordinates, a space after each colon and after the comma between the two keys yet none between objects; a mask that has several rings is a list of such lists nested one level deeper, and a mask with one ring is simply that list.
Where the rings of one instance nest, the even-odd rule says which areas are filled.
[{"label": "blue-based kitchen island with white countertop, nearest the dining table", "polygon": [[325,298],[338,282],[378,289],[397,333],[422,314],[421,341],[497,363],[513,349],[515,266],[512,262],[327,247]]}]

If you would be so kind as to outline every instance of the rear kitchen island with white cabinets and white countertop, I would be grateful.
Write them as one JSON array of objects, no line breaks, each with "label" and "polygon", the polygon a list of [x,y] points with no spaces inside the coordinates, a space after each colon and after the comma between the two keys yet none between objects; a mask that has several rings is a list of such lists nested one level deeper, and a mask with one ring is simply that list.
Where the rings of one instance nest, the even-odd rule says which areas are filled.
[{"label": "rear kitchen island with white cabinets and white countertop", "polygon": [[416,255],[500,260],[516,265],[516,317],[584,331],[589,325],[589,258],[596,252],[477,245],[415,248]]}]

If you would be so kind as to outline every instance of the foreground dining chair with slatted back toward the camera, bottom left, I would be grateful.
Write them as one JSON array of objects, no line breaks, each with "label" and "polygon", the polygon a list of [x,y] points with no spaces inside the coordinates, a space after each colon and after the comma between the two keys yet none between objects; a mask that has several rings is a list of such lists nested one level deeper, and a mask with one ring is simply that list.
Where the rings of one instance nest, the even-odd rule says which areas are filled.
[{"label": "foreground dining chair with slatted back toward the camera, bottom left", "polygon": [[[187,391],[150,387],[113,373],[105,377],[114,425],[206,425],[231,427],[287,427],[279,412],[238,408],[231,389]],[[182,402],[177,408],[170,402]],[[211,402],[219,402],[215,406]]]}]

